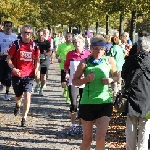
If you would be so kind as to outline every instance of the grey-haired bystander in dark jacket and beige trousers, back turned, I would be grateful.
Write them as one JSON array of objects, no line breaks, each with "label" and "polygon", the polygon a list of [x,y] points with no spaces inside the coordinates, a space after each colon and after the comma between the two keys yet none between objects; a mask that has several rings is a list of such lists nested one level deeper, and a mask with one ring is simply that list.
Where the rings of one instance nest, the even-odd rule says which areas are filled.
[{"label": "grey-haired bystander in dark jacket and beige trousers, back turned", "polygon": [[122,78],[125,81],[125,89],[128,89],[136,76],[140,72],[143,72],[142,75],[137,78],[136,84],[134,84],[135,86],[132,87],[130,92],[128,93],[126,150],[135,150],[136,143],[138,146],[138,150],[148,149],[150,120],[148,120],[146,116],[150,113],[149,52],[150,39],[148,39],[147,37],[140,37],[137,42],[137,53],[129,56],[122,68]]}]

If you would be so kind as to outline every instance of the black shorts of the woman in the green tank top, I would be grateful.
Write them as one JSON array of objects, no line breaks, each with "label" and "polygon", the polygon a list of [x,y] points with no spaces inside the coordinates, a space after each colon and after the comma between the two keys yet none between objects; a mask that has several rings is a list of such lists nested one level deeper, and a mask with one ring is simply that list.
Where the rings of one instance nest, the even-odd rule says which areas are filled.
[{"label": "black shorts of the woman in the green tank top", "polygon": [[111,117],[113,111],[112,103],[105,104],[80,104],[80,118],[85,121],[93,121],[103,116]]}]

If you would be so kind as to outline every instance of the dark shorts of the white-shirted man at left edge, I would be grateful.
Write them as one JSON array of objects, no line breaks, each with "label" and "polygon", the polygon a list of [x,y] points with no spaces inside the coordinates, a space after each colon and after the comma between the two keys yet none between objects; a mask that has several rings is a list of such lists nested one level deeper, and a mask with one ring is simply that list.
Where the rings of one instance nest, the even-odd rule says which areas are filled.
[{"label": "dark shorts of the white-shirted man at left edge", "polygon": [[5,60],[0,60],[0,82],[7,87],[11,86],[11,69]]}]

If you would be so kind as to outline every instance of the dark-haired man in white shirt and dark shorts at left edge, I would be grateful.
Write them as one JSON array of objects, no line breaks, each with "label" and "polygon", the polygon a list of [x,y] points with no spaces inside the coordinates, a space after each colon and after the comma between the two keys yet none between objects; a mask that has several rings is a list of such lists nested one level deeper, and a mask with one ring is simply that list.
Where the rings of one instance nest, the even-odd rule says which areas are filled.
[{"label": "dark-haired man in white shirt and dark shorts at left edge", "polygon": [[17,40],[16,34],[12,33],[12,22],[4,21],[3,32],[0,32],[0,82],[6,86],[4,100],[10,101],[9,89],[11,86],[11,69],[7,64],[6,57],[12,42]]}]

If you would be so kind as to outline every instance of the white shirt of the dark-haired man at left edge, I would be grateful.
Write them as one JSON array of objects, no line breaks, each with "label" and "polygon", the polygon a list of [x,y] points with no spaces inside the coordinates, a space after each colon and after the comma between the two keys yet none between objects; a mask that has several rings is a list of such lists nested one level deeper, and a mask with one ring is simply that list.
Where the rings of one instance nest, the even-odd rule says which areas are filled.
[{"label": "white shirt of the dark-haired man at left edge", "polygon": [[14,33],[6,35],[5,33],[0,33],[0,53],[8,55],[8,50],[12,45],[12,42],[17,40],[17,36]]}]

